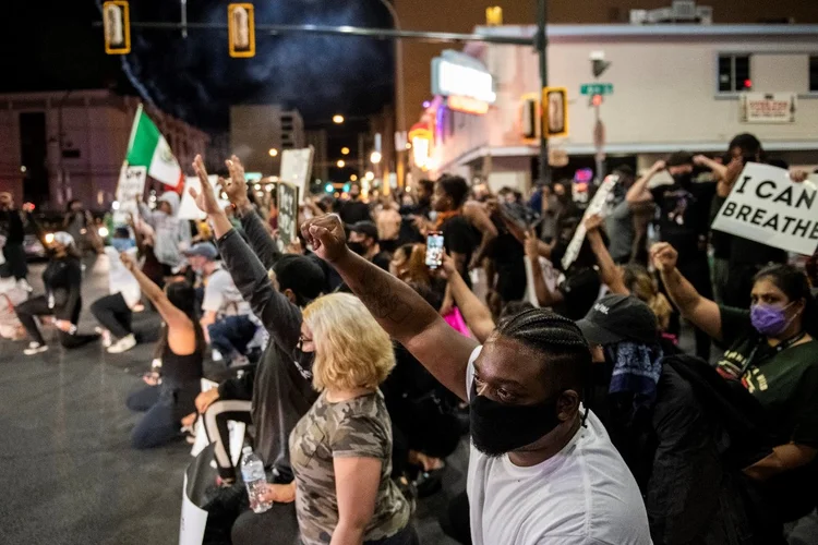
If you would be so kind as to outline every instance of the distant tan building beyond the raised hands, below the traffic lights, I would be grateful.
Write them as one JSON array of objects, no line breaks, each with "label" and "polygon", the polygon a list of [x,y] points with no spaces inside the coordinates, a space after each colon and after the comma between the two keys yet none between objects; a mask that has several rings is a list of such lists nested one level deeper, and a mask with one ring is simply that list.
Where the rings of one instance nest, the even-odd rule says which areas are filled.
[{"label": "distant tan building beyond the raised hands, below the traffic lights", "polygon": [[230,147],[248,172],[278,175],[281,152],[305,145],[304,120],[298,111],[278,105],[230,107]]}]

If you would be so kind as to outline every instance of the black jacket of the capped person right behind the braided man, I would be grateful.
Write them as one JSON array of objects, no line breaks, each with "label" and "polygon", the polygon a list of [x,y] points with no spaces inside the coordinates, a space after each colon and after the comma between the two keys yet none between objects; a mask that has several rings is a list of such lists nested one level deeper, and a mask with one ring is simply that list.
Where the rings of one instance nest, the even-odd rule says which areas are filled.
[{"label": "black jacket of the capped person right behind the braided man", "polygon": [[[598,398],[598,397],[597,397]],[[655,545],[762,545],[742,469],[770,450],[748,395],[707,363],[663,360],[654,404],[634,414],[618,396],[601,402],[611,439],[645,496]]]}]

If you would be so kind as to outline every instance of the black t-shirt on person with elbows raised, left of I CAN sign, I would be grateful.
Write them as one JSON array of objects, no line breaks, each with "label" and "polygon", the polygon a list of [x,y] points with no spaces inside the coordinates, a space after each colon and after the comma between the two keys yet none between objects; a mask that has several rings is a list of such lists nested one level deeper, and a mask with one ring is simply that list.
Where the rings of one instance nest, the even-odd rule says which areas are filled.
[{"label": "black t-shirt on person with elbows raised, left of I CAN sign", "polygon": [[710,230],[710,205],[715,182],[659,185],[650,190],[659,207],[661,239],[670,242],[682,258],[699,250],[699,238]]}]

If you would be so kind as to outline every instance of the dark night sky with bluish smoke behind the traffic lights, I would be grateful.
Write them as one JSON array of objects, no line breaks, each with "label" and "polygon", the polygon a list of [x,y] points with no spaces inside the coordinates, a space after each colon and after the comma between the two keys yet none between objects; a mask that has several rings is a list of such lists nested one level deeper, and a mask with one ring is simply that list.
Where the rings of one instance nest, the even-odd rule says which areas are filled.
[{"label": "dark night sky with bluish smoke behind the traffic lights", "polygon": [[[389,41],[256,32],[255,58],[231,59],[226,29],[191,31],[185,39],[176,31],[132,28],[132,53],[119,58],[105,55],[101,27],[92,27],[101,21],[101,0],[8,3],[0,16],[0,92],[108,87],[212,132],[227,129],[231,104],[279,102],[300,110],[308,125],[325,125],[333,113],[364,116],[392,100]],[[189,0],[188,20],[226,24],[227,3]],[[253,3],[256,24],[390,25],[378,0]],[[180,16],[177,0],[130,5],[132,21]]]}]

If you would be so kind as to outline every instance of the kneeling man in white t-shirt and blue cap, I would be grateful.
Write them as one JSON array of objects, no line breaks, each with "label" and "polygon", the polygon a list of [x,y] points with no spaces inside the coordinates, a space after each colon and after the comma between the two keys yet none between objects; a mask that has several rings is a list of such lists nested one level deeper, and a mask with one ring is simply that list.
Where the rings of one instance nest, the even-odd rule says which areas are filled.
[{"label": "kneeling man in white t-shirt and blue cap", "polygon": [[241,296],[230,274],[217,262],[218,251],[210,242],[200,242],[184,252],[193,270],[202,275],[202,329],[228,366],[246,365],[248,344],[257,329],[250,304]]}]

